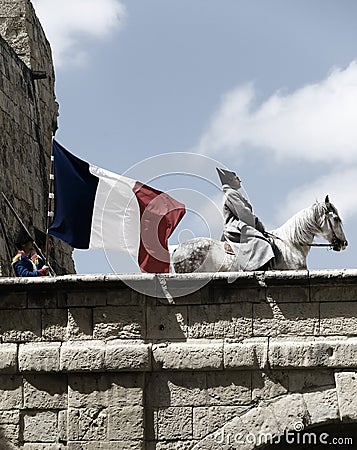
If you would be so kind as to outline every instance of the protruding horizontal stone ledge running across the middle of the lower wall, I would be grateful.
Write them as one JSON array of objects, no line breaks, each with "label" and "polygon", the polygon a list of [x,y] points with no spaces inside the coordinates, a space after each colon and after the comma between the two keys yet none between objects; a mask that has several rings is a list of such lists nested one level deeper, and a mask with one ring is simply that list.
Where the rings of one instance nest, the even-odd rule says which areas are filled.
[{"label": "protruding horizontal stone ledge running across the middle of the lower wall", "polygon": [[[18,352],[18,354],[17,354]],[[121,340],[0,344],[0,373],[220,371],[356,368],[357,337],[192,339],[146,344]],[[17,369],[18,367],[18,369]]]}]

